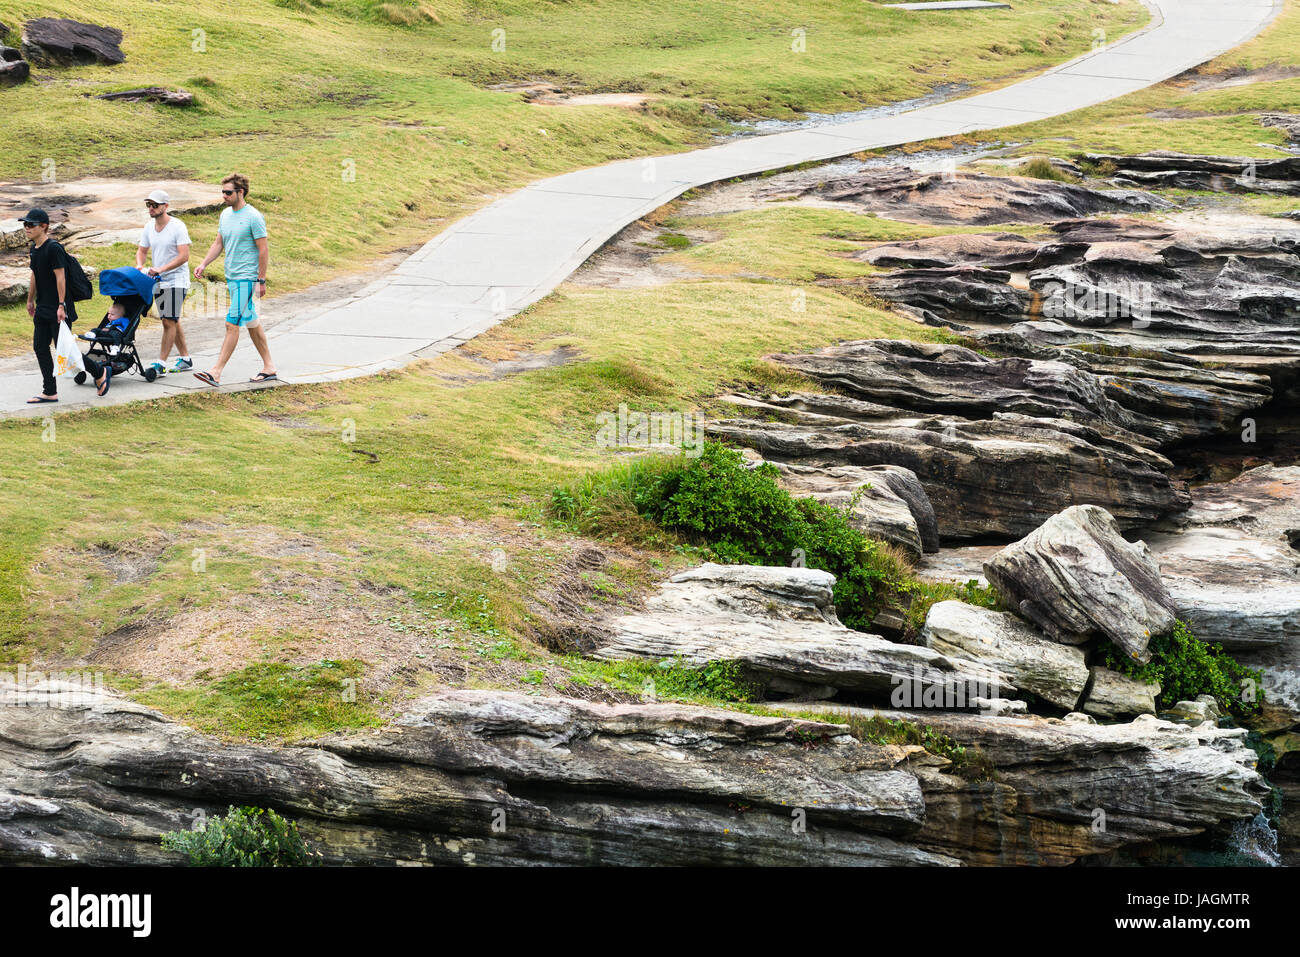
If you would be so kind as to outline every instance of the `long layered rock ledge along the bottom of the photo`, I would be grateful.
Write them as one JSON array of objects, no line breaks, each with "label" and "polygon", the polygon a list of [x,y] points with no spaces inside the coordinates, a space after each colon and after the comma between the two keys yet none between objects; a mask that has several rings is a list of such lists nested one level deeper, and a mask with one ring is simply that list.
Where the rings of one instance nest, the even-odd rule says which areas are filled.
[{"label": "long layered rock ledge along the bottom of the photo", "polygon": [[1067,863],[1249,818],[1262,793],[1242,732],[1156,719],[902,714],[997,763],[967,781],[840,724],[679,705],[446,692],[385,731],[270,749],[49,690],[0,709],[10,863],[179,863],[160,832],[230,804],[290,814],[333,863]]}]

